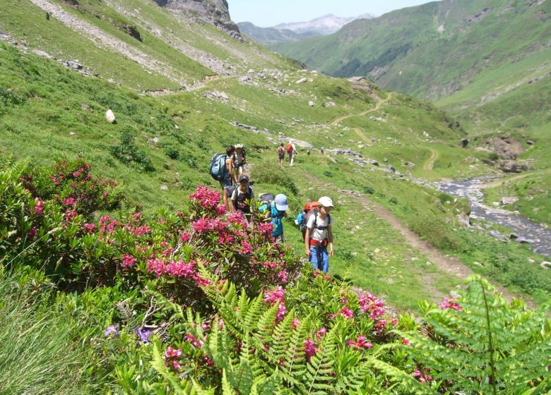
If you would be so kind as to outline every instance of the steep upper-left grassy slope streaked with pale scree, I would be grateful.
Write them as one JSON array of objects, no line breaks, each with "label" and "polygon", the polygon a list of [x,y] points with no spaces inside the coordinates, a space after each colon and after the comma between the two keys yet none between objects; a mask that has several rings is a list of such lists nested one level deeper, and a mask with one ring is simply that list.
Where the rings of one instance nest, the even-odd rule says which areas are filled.
[{"label": "steep upper-left grassy slope streaked with pale scree", "polygon": [[[49,13],[48,18],[45,9],[28,0],[17,7],[0,4],[0,30],[24,40],[30,49],[58,59],[78,59],[86,71],[132,89],[193,87],[207,76],[286,66],[282,57],[254,44],[241,44],[212,25],[182,23],[152,1],[51,4],[61,11]],[[127,34],[123,25],[135,26],[141,41]]]}]

